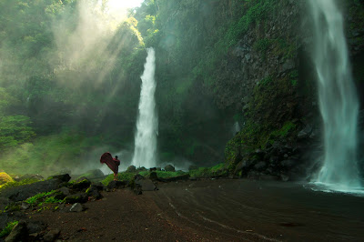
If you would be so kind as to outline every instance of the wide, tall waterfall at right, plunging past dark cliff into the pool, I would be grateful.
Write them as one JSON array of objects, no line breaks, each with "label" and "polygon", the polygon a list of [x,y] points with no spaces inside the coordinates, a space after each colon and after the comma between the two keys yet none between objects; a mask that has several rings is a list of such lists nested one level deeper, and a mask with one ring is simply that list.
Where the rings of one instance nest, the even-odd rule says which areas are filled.
[{"label": "wide, tall waterfall at right, plunging past dark cliff into the pool", "polygon": [[324,163],[316,182],[345,191],[361,187],[357,165],[359,101],[352,81],[343,17],[334,0],[309,0],[313,61],[324,122]]}]

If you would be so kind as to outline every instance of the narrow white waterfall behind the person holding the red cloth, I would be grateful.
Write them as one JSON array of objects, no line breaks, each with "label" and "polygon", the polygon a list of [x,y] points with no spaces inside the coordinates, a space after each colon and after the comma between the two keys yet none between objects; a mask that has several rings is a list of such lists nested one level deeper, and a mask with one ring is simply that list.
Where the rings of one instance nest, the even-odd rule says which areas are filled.
[{"label": "narrow white waterfall behind the person holding the red cloth", "polygon": [[132,165],[154,167],[156,166],[157,149],[157,114],[156,81],[156,55],[153,48],[147,49],[147,62],[144,65],[142,88],[140,91],[139,114],[136,121],[135,148]]}]

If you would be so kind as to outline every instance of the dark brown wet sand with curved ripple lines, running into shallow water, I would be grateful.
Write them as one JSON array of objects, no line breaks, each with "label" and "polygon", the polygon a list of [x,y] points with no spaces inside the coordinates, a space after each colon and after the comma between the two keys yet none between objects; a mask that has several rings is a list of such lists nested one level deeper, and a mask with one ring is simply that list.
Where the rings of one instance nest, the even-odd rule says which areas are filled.
[{"label": "dark brown wet sand with curved ripple lines, running into shallow water", "polygon": [[364,198],[301,184],[207,180],[105,193],[81,213],[32,215],[61,239],[87,241],[360,241]]}]

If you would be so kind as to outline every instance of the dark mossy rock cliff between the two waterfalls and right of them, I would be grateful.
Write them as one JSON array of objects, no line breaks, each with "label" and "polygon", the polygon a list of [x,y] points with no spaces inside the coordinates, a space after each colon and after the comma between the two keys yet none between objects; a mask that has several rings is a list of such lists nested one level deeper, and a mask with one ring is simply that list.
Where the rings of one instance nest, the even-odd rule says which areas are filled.
[{"label": "dark mossy rock cliff between the two waterfalls and right of them", "polygon": [[[219,152],[231,137],[231,126],[238,123],[240,132],[225,148],[232,173],[307,176],[310,157],[303,154],[316,146],[320,119],[306,2],[153,3],[142,6],[136,19],[145,27],[149,23],[145,16],[156,15],[144,35],[146,45],[156,46],[159,55],[162,150],[194,161],[201,157],[210,163],[221,161],[212,154]],[[352,59],[358,60],[353,71],[360,87],[363,2],[340,5],[346,9],[349,49]]]}]

